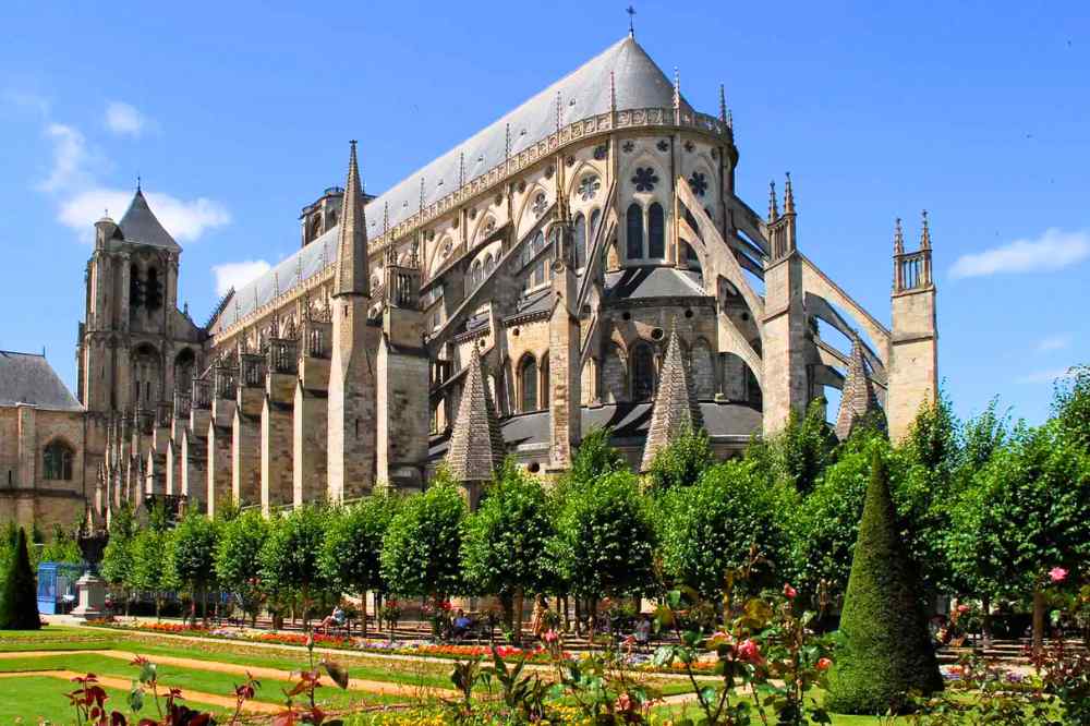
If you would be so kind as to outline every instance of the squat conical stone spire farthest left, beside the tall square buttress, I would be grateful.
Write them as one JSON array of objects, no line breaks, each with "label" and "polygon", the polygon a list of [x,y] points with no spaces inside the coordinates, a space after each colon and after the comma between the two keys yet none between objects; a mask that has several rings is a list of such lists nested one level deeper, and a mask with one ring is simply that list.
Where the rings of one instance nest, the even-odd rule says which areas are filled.
[{"label": "squat conical stone spire farthest left, beside the tall square buttress", "polygon": [[458,482],[492,481],[493,473],[504,463],[504,436],[492,403],[492,394],[481,370],[476,346],[470,353],[469,371],[458,406],[458,418],[450,432],[447,465]]}]

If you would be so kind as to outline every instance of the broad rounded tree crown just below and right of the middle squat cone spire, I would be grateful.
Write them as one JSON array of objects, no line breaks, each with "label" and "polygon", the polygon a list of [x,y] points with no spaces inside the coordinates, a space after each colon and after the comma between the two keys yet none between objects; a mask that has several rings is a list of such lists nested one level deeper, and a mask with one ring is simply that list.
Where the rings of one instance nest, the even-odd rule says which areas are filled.
[{"label": "broad rounded tree crown just below and right of the middle squat cone spire", "polygon": [[753,594],[772,584],[772,565],[783,547],[775,519],[779,501],[774,486],[752,462],[716,464],[694,486],[677,488],[667,499],[669,515],[661,537],[663,566],[679,584],[714,598],[727,572],[746,565],[754,547],[771,561],[748,584]]}]

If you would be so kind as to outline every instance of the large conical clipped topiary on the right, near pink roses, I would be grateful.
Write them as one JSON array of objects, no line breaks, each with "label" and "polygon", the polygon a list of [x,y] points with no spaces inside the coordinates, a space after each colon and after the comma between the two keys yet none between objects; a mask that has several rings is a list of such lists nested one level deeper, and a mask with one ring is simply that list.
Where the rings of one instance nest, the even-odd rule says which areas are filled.
[{"label": "large conical clipped topiary on the right, near pink roses", "polygon": [[897,535],[897,515],[885,462],[871,465],[859,539],[840,615],[840,645],[825,705],[834,713],[882,714],[910,691],[943,687],[938,662],[917,593],[917,569]]}]

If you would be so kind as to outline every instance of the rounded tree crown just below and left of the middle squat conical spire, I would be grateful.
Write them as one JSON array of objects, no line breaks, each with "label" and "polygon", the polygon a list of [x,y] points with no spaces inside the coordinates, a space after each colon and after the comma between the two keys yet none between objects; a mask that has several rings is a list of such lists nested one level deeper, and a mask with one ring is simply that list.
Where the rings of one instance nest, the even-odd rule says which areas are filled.
[{"label": "rounded tree crown just below and left of the middle squat conical spire", "polygon": [[654,547],[639,481],[615,471],[570,493],[550,550],[572,592],[601,598],[646,592],[654,582]]}]

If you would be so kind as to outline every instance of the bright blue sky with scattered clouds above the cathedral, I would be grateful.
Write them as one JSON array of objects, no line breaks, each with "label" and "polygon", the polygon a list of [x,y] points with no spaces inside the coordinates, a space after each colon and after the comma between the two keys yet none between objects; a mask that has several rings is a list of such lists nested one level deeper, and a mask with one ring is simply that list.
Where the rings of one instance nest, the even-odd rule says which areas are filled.
[{"label": "bright blue sky with scattered clouds above the cathedral", "polygon": [[[349,138],[379,192],[628,23],[622,2],[367,4],[4,3],[0,348],[45,347],[74,389],[90,222],[137,173],[203,323],[216,266],[295,249]],[[954,4],[642,2],[637,39],[697,108],[726,85],[740,195],[763,210],[790,171],[800,247],[880,319],[894,218],[911,246],[929,209],[947,392],[1037,422],[1090,362],[1090,10]]]}]

